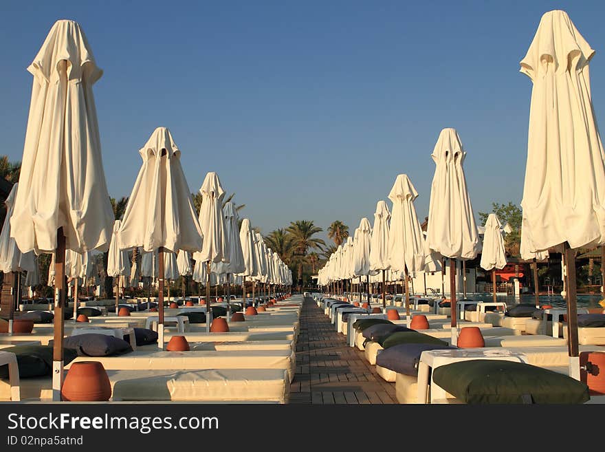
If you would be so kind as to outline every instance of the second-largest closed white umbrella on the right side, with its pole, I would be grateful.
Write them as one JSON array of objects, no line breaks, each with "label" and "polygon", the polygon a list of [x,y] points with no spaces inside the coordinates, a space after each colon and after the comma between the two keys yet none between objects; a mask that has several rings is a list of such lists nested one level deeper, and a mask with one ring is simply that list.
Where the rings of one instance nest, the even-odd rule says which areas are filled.
[{"label": "second-largest closed white umbrella on the right side, with its pole", "polygon": [[465,151],[455,129],[443,129],[431,157],[435,172],[428,208],[428,246],[450,258],[450,304],[452,309],[452,344],[456,330],[456,262],[474,259],[481,251],[477,225],[462,167]]}]

